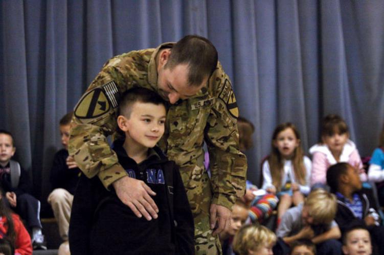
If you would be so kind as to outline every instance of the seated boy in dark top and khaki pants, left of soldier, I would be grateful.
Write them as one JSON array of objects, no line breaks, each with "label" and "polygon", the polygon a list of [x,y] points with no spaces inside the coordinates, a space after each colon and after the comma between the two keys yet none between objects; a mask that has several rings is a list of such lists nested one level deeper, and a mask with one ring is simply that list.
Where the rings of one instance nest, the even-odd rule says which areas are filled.
[{"label": "seated boy in dark top and khaki pants, left of soldier", "polygon": [[74,159],[68,154],[68,140],[73,112],[65,114],[59,122],[61,144],[63,148],[56,152],[51,168],[50,181],[53,191],[48,196],[48,202],[59,226],[60,237],[67,245],[68,229],[73,202],[73,194],[79,181],[80,169]]}]

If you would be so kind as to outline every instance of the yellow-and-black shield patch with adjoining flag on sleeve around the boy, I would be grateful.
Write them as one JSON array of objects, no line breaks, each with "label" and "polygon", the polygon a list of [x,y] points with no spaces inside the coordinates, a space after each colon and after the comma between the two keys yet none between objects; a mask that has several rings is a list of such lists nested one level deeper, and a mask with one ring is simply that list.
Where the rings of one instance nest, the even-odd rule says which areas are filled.
[{"label": "yellow-and-black shield patch with adjoining flag on sleeve around the boy", "polygon": [[75,109],[75,116],[80,119],[93,119],[116,108],[119,104],[119,90],[114,81],[86,93]]}]

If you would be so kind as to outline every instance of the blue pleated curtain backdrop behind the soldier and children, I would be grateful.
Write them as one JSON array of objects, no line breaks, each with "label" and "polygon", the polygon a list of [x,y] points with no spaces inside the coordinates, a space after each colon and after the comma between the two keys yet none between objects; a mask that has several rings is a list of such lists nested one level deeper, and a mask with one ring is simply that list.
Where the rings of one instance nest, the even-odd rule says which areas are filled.
[{"label": "blue pleated curtain backdrop behind the soldier and children", "polygon": [[337,113],[360,154],[383,124],[384,2],[347,0],[1,0],[0,128],[15,136],[43,202],[60,148],[58,121],[103,63],[187,34],[208,37],[256,127],[247,153],[258,183],[274,127],[295,123],[305,151]]}]

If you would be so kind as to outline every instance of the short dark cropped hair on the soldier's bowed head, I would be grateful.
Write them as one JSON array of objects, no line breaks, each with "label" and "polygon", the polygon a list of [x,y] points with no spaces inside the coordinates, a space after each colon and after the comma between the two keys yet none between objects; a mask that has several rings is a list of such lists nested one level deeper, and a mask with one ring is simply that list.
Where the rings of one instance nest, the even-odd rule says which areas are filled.
[{"label": "short dark cropped hair on the soldier's bowed head", "polygon": [[187,64],[189,85],[199,86],[216,69],[217,58],[217,50],[207,38],[187,35],[173,46],[164,68],[173,69],[176,65]]}]

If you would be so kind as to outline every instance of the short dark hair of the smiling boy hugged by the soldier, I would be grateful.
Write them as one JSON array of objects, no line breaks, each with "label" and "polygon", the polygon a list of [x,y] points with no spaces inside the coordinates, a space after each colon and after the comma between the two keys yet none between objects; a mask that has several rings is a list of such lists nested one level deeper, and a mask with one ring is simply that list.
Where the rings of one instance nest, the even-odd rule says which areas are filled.
[{"label": "short dark hair of the smiling boy hugged by the soldier", "polygon": [[146,88],[135,87],[125,91],[121,96],[119,103],[119,115],[129,118],[131,114],[131,107],[136,102],[151,103],[166,107],[165,101],[156,92]]}]

